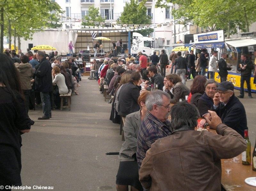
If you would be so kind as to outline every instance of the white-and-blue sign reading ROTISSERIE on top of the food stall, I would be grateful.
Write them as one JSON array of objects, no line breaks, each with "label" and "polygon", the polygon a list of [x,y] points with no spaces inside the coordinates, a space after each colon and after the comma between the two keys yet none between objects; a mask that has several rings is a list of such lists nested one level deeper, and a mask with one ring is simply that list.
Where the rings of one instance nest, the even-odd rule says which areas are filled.
[{"label": "white-and-blue sign reading ROTISSERIE on top of the food stall", "polygon": [[194,43],[224,42],[224,31],[211,31],[194,34]]}]

